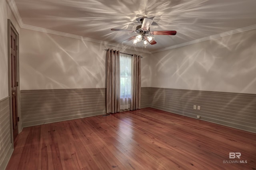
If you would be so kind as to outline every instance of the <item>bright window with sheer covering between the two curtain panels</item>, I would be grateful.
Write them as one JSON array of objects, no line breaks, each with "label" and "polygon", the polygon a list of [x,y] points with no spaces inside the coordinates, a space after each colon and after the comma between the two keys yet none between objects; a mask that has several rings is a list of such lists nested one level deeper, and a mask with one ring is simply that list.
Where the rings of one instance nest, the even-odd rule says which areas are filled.
[{"label": "bright window with sheer covering between the two curtain panels", "polygon": [[120,53],[120,109],[130,108],[131,55]]}]

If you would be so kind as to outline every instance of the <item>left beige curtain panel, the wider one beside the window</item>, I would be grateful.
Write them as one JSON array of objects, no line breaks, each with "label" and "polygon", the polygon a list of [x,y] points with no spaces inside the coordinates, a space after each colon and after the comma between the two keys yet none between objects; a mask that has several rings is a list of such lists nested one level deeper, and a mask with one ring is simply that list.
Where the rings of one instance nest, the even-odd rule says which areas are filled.
[{"label": "left beige curtain panel, the wider one beside the window", "polygon": [[106,55],[106,113],[120,111],[119,51],[108,49]]}]

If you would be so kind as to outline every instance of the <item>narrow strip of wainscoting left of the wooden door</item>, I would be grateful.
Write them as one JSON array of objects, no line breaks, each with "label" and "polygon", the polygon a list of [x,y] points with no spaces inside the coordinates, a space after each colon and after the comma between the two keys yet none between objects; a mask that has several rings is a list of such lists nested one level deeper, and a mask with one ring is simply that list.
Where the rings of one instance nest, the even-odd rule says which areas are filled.
[{"label": "narrow strip of wainscoting left of the wooden door", "polygon": [[12,155],[9,97],[0,100],[0,170],[4,170]]}]

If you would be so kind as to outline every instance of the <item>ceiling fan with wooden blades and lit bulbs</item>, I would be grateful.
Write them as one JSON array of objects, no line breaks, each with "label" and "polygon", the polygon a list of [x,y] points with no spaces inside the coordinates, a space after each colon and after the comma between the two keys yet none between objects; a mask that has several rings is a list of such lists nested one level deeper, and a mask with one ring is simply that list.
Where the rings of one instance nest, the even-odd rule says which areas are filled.
[{"label": "ceiling fan with wooden blades and lit bulbs", "polygon": [[145,45],[145,47],[146,45],[148,45],[148,43],[150,43],[151,45],[156,44],[154,37],[150,35],[176,35],[177,33],[176,31],[150,31],[150,25],[153,23],[153,20],[150,18],[140,18],[140,22],[142,23],[142,25],[138,25],[135,31],[116,28],[112,28],[111,30],[137,33],[138,35],[134,35],[122,42],[126,43],[128,41],[133,40],[133,43],[136,44],[137,42],[143,41],[143,45]]}]

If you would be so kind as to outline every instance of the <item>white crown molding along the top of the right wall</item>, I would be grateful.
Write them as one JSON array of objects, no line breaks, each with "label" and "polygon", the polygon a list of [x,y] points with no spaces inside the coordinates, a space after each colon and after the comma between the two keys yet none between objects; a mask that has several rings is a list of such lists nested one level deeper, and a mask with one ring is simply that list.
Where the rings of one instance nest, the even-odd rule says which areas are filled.
[{"label": "white crown molding along the top of the right wall", "polygon": [[166,50],[170,50],[170,49],[174,49],[174,48],[178,48],[178,47],[183,47],[183,46],[190,45],[190,44],[200,43],[202,41],[207,41],[207,40],[211,40],[211,39],[225,37],[227,35],[233,35],[233,34],[236,34],[236,33],[249,31],[249,30],[252,30],[252,29],[256,29],[256,24],[255,25],[250,25],[248,27],[234,29],[232,31],[227,31],[227,32],[224,32],[224,33],[216,34],[216,35],[211,35],[211,36],[200,38],[200,39],[195,39],[193,41],[188,41],[188,42],[185,42],[185,43],[172,45],[170,47],[165,47],[165,48],[162,48],[162,49],[159,49],[159,50],[151,51],[151,53],[158,53],[158,52],[161,52],[161,51],[166,51]]}]

